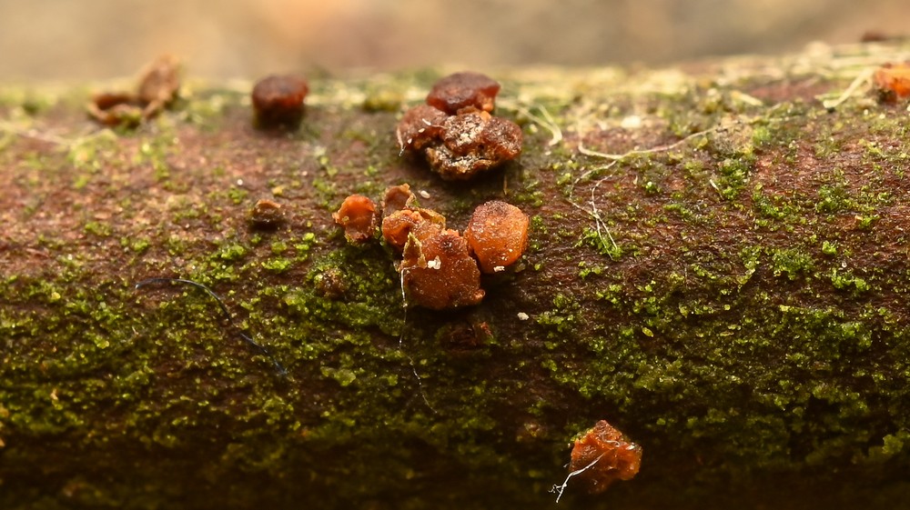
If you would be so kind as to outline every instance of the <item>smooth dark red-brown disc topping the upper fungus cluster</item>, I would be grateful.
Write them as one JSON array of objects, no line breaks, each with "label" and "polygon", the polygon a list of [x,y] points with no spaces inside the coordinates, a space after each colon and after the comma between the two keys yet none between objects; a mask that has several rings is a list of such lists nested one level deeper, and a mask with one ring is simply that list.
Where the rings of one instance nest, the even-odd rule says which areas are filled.
[{"label": "smooth dark red-brown disc topping the upper fungus cluster", "polygon": [[449,115],[458,114],[465,109],[492,112],[499,92],[500,84],[490,76],[480,73],[455,73],[433,85],[430,95],[427,95],[427,105]]}]

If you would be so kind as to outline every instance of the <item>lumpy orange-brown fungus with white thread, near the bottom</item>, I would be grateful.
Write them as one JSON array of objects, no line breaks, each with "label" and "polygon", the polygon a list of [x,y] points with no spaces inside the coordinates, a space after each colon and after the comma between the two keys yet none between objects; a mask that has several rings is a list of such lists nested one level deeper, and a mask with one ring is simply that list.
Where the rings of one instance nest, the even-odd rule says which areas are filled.
[{"label": "lumpy orange-brown fungus with white thread, near the bottom", "polygon": [[622,432],[601,420],[571,449],[569,470],[581,471],[576,478],[588,492],[599,494],[616,480],[631,480],[642,465],[642,447],[628,442]]}]

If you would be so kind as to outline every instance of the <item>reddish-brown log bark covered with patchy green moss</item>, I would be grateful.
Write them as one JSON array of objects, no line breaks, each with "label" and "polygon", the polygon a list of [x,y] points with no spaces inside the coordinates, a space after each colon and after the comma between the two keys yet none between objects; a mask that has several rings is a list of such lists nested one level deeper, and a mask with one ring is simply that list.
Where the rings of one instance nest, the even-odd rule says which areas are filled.
[{"label": "reddish-brown log bark covered with patchy green moss", "polygon": [[[0,88],[0,507],[544,508],[600,419],[642,472],[562,506],[902,505],[907,113],[863,78],[907,49],[502,72],[524,152],[469,184],[399,156],[433,72],[314,79],[290,134],[249,84],[135,131]],[[519,205],[521,268],[406,312],[331,219],[402,182],[456,228]]]}]

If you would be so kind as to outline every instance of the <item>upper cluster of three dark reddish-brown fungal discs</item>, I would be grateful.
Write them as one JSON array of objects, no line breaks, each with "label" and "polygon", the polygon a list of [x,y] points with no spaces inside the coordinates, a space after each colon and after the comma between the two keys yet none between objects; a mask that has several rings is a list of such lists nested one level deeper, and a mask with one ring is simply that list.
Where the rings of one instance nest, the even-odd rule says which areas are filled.
[{"label": "upper cluster of three dark reddish-brown fungal discs", "polygon": [[396,135],[401,151],[423,155],[446,180],[466,180],[521,154],[515,123],[490,115],[500,84],[456,73],[433,85],[427,104],[405,112]]}]

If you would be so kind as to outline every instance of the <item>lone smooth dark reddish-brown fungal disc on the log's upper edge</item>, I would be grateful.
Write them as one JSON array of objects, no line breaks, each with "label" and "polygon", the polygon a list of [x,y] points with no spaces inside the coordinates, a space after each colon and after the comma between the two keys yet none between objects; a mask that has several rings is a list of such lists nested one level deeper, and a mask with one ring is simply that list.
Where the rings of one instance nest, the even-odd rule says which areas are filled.
[{"label": "lone smooth dark reddish-brown fungal disc on the log's upper edge", "polygon": [[258,125],[296,127],[308,92],[307,81],[298,76],[270,75],[259,80],[251,95]]}]

